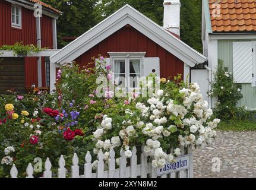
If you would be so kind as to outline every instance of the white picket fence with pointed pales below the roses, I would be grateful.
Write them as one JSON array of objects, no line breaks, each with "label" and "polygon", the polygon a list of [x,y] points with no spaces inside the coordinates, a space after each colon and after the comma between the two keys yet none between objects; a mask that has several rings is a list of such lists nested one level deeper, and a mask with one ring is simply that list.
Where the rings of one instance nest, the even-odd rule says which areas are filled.
[{"label": "white picket fence with pointed pales below the roses", "polygon": [[[181,170],[179,172],[172,172],[167,175],[159,176],[158,178],[193,178],[193,157],[192,157],[192,148],[181,148],[181,156],[189,156],[189,168],[186,170]],[[130,159],[130,164],[127,166],[127,158],[124,155],[124,151],[121,151],[121,157],[119,159],[119,168],[116,168],[115,160],[115,151],[110,150],[110,159],[109,159],[109,169],[104,169],[104,154],[102,150],[98,154],[98,164],[97,172],[93,173],[91,165],[91,154],[88,151],[85,157],[86,163],[84,164],[84,174],[80,175],[79,166],[78,166],[78,156],[75,153],[72,158],[72,167],[71,167],[71,178],[157,178],[156,168],[151,165],[151,162],[147,162],[147,157],[144,154],[140,155],[140,163],[137,161],[137,149],[136,147],[132,150],[132,157]],[[54,178],[52,175],[52,164],[49,159],[46,159],[45,162],[45,172],[43,172],[42,178]],[[34,168],[31,163],[27,166],[27,177],[34,178]],[[10,170],[11,178],[17,178],[18,170],[15,164],[12,165]],[[65,168],[64,157],[61,156],[59,159],[59,168],[58,175],[56,178],[66,178],[67,169]]]}]

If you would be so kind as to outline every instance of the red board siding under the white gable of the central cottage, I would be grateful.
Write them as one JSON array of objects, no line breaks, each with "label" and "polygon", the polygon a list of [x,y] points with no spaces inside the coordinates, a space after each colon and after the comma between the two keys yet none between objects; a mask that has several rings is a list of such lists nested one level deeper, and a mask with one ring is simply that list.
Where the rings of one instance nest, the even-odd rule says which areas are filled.
[{"label": "red board siding under the white gable of the central cottage", "polygon": [[161,77],[172,79],[177,74],[184,73],[184,62],[131,26],[116,31],[75,61],[85,66],[91,62],[93,56],[97,57],[98,54],[109,57],[108,52],[147,52],[146,57],[160,58]]}]

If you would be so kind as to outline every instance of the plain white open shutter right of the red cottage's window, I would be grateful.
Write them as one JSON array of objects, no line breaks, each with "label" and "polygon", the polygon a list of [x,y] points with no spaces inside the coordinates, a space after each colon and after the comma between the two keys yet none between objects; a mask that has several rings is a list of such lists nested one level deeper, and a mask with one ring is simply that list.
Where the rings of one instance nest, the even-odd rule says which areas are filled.
[{"label": "plain white open shutter right of the red cottage's window", "polygon": [[147,77],[151,73],[160,77],[159,58],[143,58],[143,77]]}]

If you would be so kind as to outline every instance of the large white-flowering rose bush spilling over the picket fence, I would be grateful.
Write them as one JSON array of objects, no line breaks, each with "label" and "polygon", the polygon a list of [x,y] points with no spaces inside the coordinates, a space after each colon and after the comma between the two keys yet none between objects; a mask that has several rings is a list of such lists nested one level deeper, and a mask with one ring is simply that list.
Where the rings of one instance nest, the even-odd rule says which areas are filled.
[{"label": "large white-flowering rose bush spilling over the picket fence", "polygon": [[[111,147],[119,147],[129,158],[132,147],[141,144],[144,145],[143,153],[151,157],[152,165],[163,167],[181,155],[181,147],[210,144],[216,136],[213,129],[220,120],[211,121],[213,112],[203,100],[198,84],[179,87],[169,82],[163,85],[165,88],[157,91],[154,97],[141,101],[134,99],[135,107],[125,110],[124,121],[114,122],[115,116],[105,115],[93,132],[94,153],[102,149],[108,154]],[[125,106],[129,105],[124,102]],[[106,138],[113,134],[119,134],[119,137]]]}]

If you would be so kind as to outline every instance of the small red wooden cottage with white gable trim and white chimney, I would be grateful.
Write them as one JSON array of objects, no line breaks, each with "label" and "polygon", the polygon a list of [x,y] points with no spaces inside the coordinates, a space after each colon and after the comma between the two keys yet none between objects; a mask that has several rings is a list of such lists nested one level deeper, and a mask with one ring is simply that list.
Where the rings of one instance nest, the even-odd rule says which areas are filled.
[{"label": "small red wooden cottage with white gable trim and white chimney", "polygon": [[[53,67],[75,61],[84,66],[98,54],[107,57],[115,77],[147,76],[184,78],[190,68],[207,58],[179,38],[179,0],[164,1],[164,26],[151,21],[129,5],[125,5],[82,36],[50,57]],[[55,65],[54,65],[55,64]],[[51,71],[50,88],[54,88],[55,69]],[[131,87],[127,79],[127,87]],[[131,85],[130,85],[131,84]]]}]

